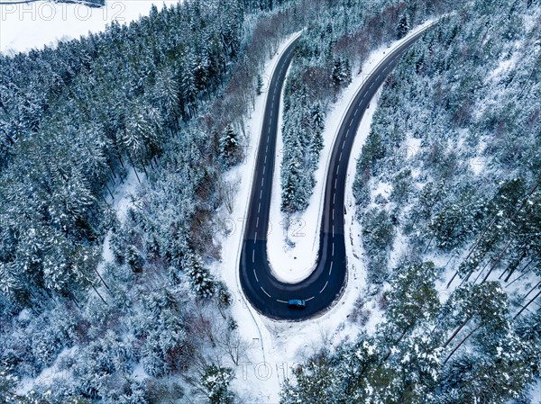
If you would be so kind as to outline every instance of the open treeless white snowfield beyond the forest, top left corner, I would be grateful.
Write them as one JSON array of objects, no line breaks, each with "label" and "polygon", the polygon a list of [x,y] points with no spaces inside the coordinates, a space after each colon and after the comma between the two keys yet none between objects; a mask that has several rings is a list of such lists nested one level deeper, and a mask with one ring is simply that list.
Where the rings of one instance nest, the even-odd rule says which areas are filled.
[{"label": "open treeless white snowfield beyond the forest, top left corner", "polygon": [[59,40],[104,31],[117,21],[129,23],[151,11],[151,4],[179,0],[106,0],[104,7],[38,1],[28,4],[2,4],[0,1],[0,52],[12,54],[32,48],[55,46]]}]

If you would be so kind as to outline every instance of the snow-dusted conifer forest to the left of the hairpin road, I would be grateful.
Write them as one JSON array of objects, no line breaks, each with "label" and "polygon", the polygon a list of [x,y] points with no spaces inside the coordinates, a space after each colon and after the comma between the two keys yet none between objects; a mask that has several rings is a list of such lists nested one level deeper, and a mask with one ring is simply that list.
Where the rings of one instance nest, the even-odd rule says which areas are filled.
[{"label": "snow-dusted conifer forest to the left of the hairpin road", "polygon": [[2,402],[232,400],[215,358],[243,344],[206,268],[211,216],[256,75],[295,25],[256,3],[154,7],[0,56]]}]

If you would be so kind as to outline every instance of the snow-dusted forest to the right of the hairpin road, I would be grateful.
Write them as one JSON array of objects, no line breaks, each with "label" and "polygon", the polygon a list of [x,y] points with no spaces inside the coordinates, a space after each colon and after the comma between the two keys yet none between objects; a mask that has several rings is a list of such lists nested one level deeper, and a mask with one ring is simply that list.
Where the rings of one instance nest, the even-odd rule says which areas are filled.
[{"label": "snow-dusted forest to the right of the hairpin road", "polygon": [[384,320],[283,404],[538,402],[540,5],[465,4],[388,78],[353,187]]}]

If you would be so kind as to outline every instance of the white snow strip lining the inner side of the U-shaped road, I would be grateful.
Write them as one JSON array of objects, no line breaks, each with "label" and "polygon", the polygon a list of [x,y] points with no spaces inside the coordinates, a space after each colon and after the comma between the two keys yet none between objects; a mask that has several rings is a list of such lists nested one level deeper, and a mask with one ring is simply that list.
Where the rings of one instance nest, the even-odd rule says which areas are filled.
[{"label": "white snow strip lining the inner side of the U-shaped road", "polygon": [[[434,20],[429,20],[424,24],[419,25],[415,30],[410,31],[408,36],[402,40],[397,40],[392,42],[389,46],[383,46],[381,49],[375,50],[367,62],[362,66],[362,73],[353,77],[352,83],[344,90],[340,100],[334,104],[331,112],[327,114],[326,128],[323,133],[324,149],[321,152],[319,166],[315,174],[316,186],[314,188],[314,193],[312,193],[307,210],[291,217],[289,230],[287,232],[284,227],[285,217],[280,212],[280,165],[282,161],[281,150],[283,149],[283,143],[281,130],[279,130],[276,146],[276,164],[272,183],[274,190],[271,198],[271,231],[268,235],[267,248],[271,268],[280,281],[286,283],[298,283],[307,278],[316,267],[317,249],[319,247],[319,225],[321,223],[321,212],[323,211],[324,202],[325,176],[328,165],[330,164],[329,159],[335,142],[336,133],[338,132],[340,122],[344,118],[344,113],[347,110],[348,105],[353,102],[353,98],[359,91],[362,83],[370,76],[371,71],[381,63],[381,60],[385,57],[386,53],[389,54],[392,49],[398,47],[418,31],[426,29],[426,27],[433,22]],[[283,109],[280,107],[280,123],[282,111]],[[255,113],[257,113],[257,110]],[[279,128],[281,128],[281,124]],[[367,128],[367,134],[368,130],[370,130],[370,127]],[[413,143],[411,146],[412,148],[415,148],[416,145]],[[349,163],[350,166],[354,166],[354,159],[357,158],[359,154],[360,149],[359,152],[353,151],[352,160]],[[348,185],[348,189],[350,188],[351,185]],[[353,204],[352,200],[346,205],[346,209],[352,207]],[[293,243],[287,243],[286,240],[292,241]],[[292,247],[293,244],[294,247]]]}]

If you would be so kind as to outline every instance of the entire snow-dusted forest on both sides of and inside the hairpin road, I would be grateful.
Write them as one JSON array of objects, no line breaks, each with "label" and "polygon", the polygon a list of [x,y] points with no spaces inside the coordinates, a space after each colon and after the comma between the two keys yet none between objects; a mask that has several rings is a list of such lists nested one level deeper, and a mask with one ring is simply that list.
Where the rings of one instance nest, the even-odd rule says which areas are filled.
[{"label": "entire snow-dusted forest on both sides of and inside the hairpin road", "polygon": [[304,29],[276,167],[289,214],[307,207],[326,112],[371,49],[453,11],[390,75],[356,160],[353,242],[381,324],[365,327],[359,300],[358,335],[296,365],[281,402],[530,402],[536,0],[187,0],[0,54],[0,402],[246,402],[243,325],[210,268],[265,62]]}]

